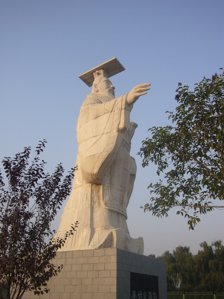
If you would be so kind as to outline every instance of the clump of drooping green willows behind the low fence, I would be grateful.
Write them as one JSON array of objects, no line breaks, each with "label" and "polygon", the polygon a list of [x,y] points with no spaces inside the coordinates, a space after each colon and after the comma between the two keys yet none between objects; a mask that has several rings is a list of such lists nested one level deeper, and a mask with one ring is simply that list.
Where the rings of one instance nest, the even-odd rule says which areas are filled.
[{"label": "clump of drooping green willows behind the low fence", "polygon": [[[193,255],[187,246],[178,246],[173,253],[165,251],[157,259],[166,262],[168,291],[224,291],[224,246],[218,240]],[[150,255],[155,257],[154,254]]]}]

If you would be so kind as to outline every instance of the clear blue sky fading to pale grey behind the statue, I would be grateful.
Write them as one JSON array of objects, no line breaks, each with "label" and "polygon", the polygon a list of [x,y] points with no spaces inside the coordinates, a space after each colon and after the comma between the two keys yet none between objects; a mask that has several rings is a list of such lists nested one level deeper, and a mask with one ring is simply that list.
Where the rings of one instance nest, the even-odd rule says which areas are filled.
[{"label": "clear blue sky fading to pale grey behind the statue", "polygon": [[223,12],[223,0],[0,0],[0,158],[46,139],[47,171],[59,162],[73,167],[79,109],[91,92],[78,75],[116,56],[126,69],[111,78],[116,96],[151,82],[131,112],[139,125],[131,149],[138,167],[131,237],[144,238],[146,255],[178,245],[196,254],[204,240],[224,241],[223,210],[202,217],[194,231],[176,211],[165,219],[144,213],[147,187],[158,176],[136,156],[148,128],[170,123],[165,111],[177,106],[177,83],[194,89],[224,67]]}]

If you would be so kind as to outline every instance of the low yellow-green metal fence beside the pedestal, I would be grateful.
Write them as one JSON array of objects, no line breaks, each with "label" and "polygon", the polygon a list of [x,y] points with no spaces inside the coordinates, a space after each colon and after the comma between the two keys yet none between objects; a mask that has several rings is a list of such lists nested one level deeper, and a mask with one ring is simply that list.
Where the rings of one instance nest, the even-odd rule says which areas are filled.
[{"label": "low yellow-green metal fence beside the pedestal", "polygon": [[168,299],[224,299],[224,292],[167,292]]}]

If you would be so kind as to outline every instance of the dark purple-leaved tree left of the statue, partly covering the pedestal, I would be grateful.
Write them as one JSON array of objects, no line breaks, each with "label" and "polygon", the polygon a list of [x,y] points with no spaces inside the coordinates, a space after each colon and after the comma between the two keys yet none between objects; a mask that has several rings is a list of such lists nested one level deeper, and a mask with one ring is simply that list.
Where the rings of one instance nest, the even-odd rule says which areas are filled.
[{"label": "dark purple-leaved tree left of the statue, partly covering the pedestal", "polygon": [[58,164],[53,174],[45,173],[39,155],[46,141],[36,147],[29,162],[30,147],[15,158],[4,158],[4,178],[0,171],[0,298],[21,299],[27,290],[48,292],[47,281],[62,269],[51,260],[65,239],[73,234],[77,222],[64,238],[53,239],[50,223],[69,195],[72,169],[63,178]]}]

